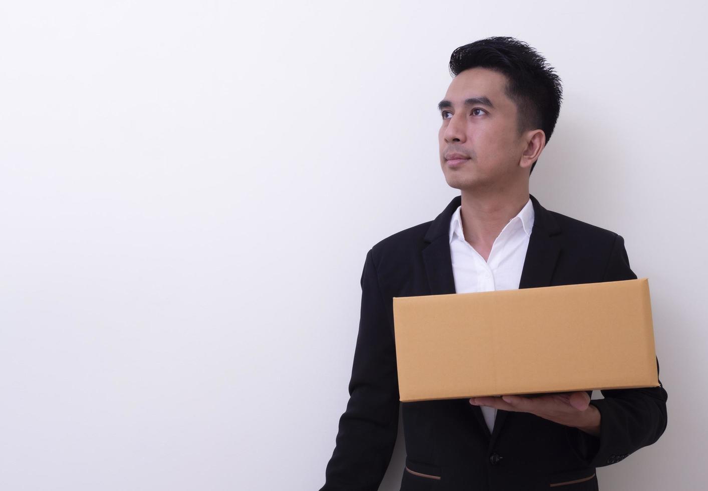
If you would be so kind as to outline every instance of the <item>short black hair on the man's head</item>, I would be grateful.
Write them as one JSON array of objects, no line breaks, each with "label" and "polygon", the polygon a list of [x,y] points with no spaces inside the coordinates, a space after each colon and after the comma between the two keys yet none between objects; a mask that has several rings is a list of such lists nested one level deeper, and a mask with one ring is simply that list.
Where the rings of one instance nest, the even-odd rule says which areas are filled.
[{"label": "short black hair on the man's head", "polygon": [[[505,93],[516,103],[519,134],[542,129],[546,143],[561,112],[561,79],[544,57],[514,37],[493,36],[458,47],[450,55],[450,74],[481,67],[506,75]],[[530,173],[536,166],[532,163]]]}]

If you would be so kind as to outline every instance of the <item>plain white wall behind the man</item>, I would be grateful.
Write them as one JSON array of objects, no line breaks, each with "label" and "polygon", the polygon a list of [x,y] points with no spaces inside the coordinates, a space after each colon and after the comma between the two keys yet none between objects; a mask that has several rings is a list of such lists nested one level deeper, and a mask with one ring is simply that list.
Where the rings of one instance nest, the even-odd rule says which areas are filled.
[{"label": "plain white wall behind the man", "polygon": [[[668,428],[605,490],[708,478],[704,4],[5,1],[0,488],[316,490],[367,250],[457,195],[455,47],[529,42],[531,178],[649,277]],[[397,490],[399,438],[382,490]]]}]

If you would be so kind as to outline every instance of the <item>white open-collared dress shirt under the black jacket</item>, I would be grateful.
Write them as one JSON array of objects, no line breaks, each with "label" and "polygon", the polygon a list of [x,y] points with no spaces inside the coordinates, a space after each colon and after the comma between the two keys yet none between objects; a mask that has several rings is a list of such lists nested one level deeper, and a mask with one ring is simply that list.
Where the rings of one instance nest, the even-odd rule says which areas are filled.
[{"label": "white open-collared dress shirt under the black jacket", "polygon": [[[452,275],[455,277],[455,292],[518,289],[534,221],[531,198],[529,197],[521,211],[509,220],[494,239],[489,259],[486,261],[464,240],[461,209],[462,206],[457,207],[450,219],[450,257]],[[479,408],[491,432],[496,408]]]}]

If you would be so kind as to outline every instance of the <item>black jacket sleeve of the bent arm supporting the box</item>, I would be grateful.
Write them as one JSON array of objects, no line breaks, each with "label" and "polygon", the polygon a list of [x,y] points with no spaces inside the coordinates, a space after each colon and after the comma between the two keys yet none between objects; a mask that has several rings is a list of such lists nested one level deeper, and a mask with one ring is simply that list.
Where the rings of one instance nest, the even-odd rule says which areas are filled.
[{"label": "black jacket sleeve of the bent arm supporting the box", "polygon": [[[603,281],[636,279],[629,267],[622,236],[615,237]],[[656,359],[658,375],[659,363]],[[608,466],[621,461],[643,446],[651,445],[666,429],[667,393],[658,387],[600,391],[604,399],[591,403],[600,410],[600,436],[566,427],[571,446],[589,467]]]}]

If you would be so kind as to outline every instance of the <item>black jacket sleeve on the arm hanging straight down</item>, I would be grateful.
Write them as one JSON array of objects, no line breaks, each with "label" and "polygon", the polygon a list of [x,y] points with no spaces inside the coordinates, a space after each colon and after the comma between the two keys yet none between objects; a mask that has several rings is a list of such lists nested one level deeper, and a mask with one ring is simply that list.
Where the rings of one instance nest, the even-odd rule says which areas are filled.
[{"label": "black jacket sleeve on the arm hanging straight down", "polygon": [[373,249],[361,276],[359,333],[349,382],[349,402],[320,491],[377,491],[391,461],[399,422],[396,350],[379,289]]}]

